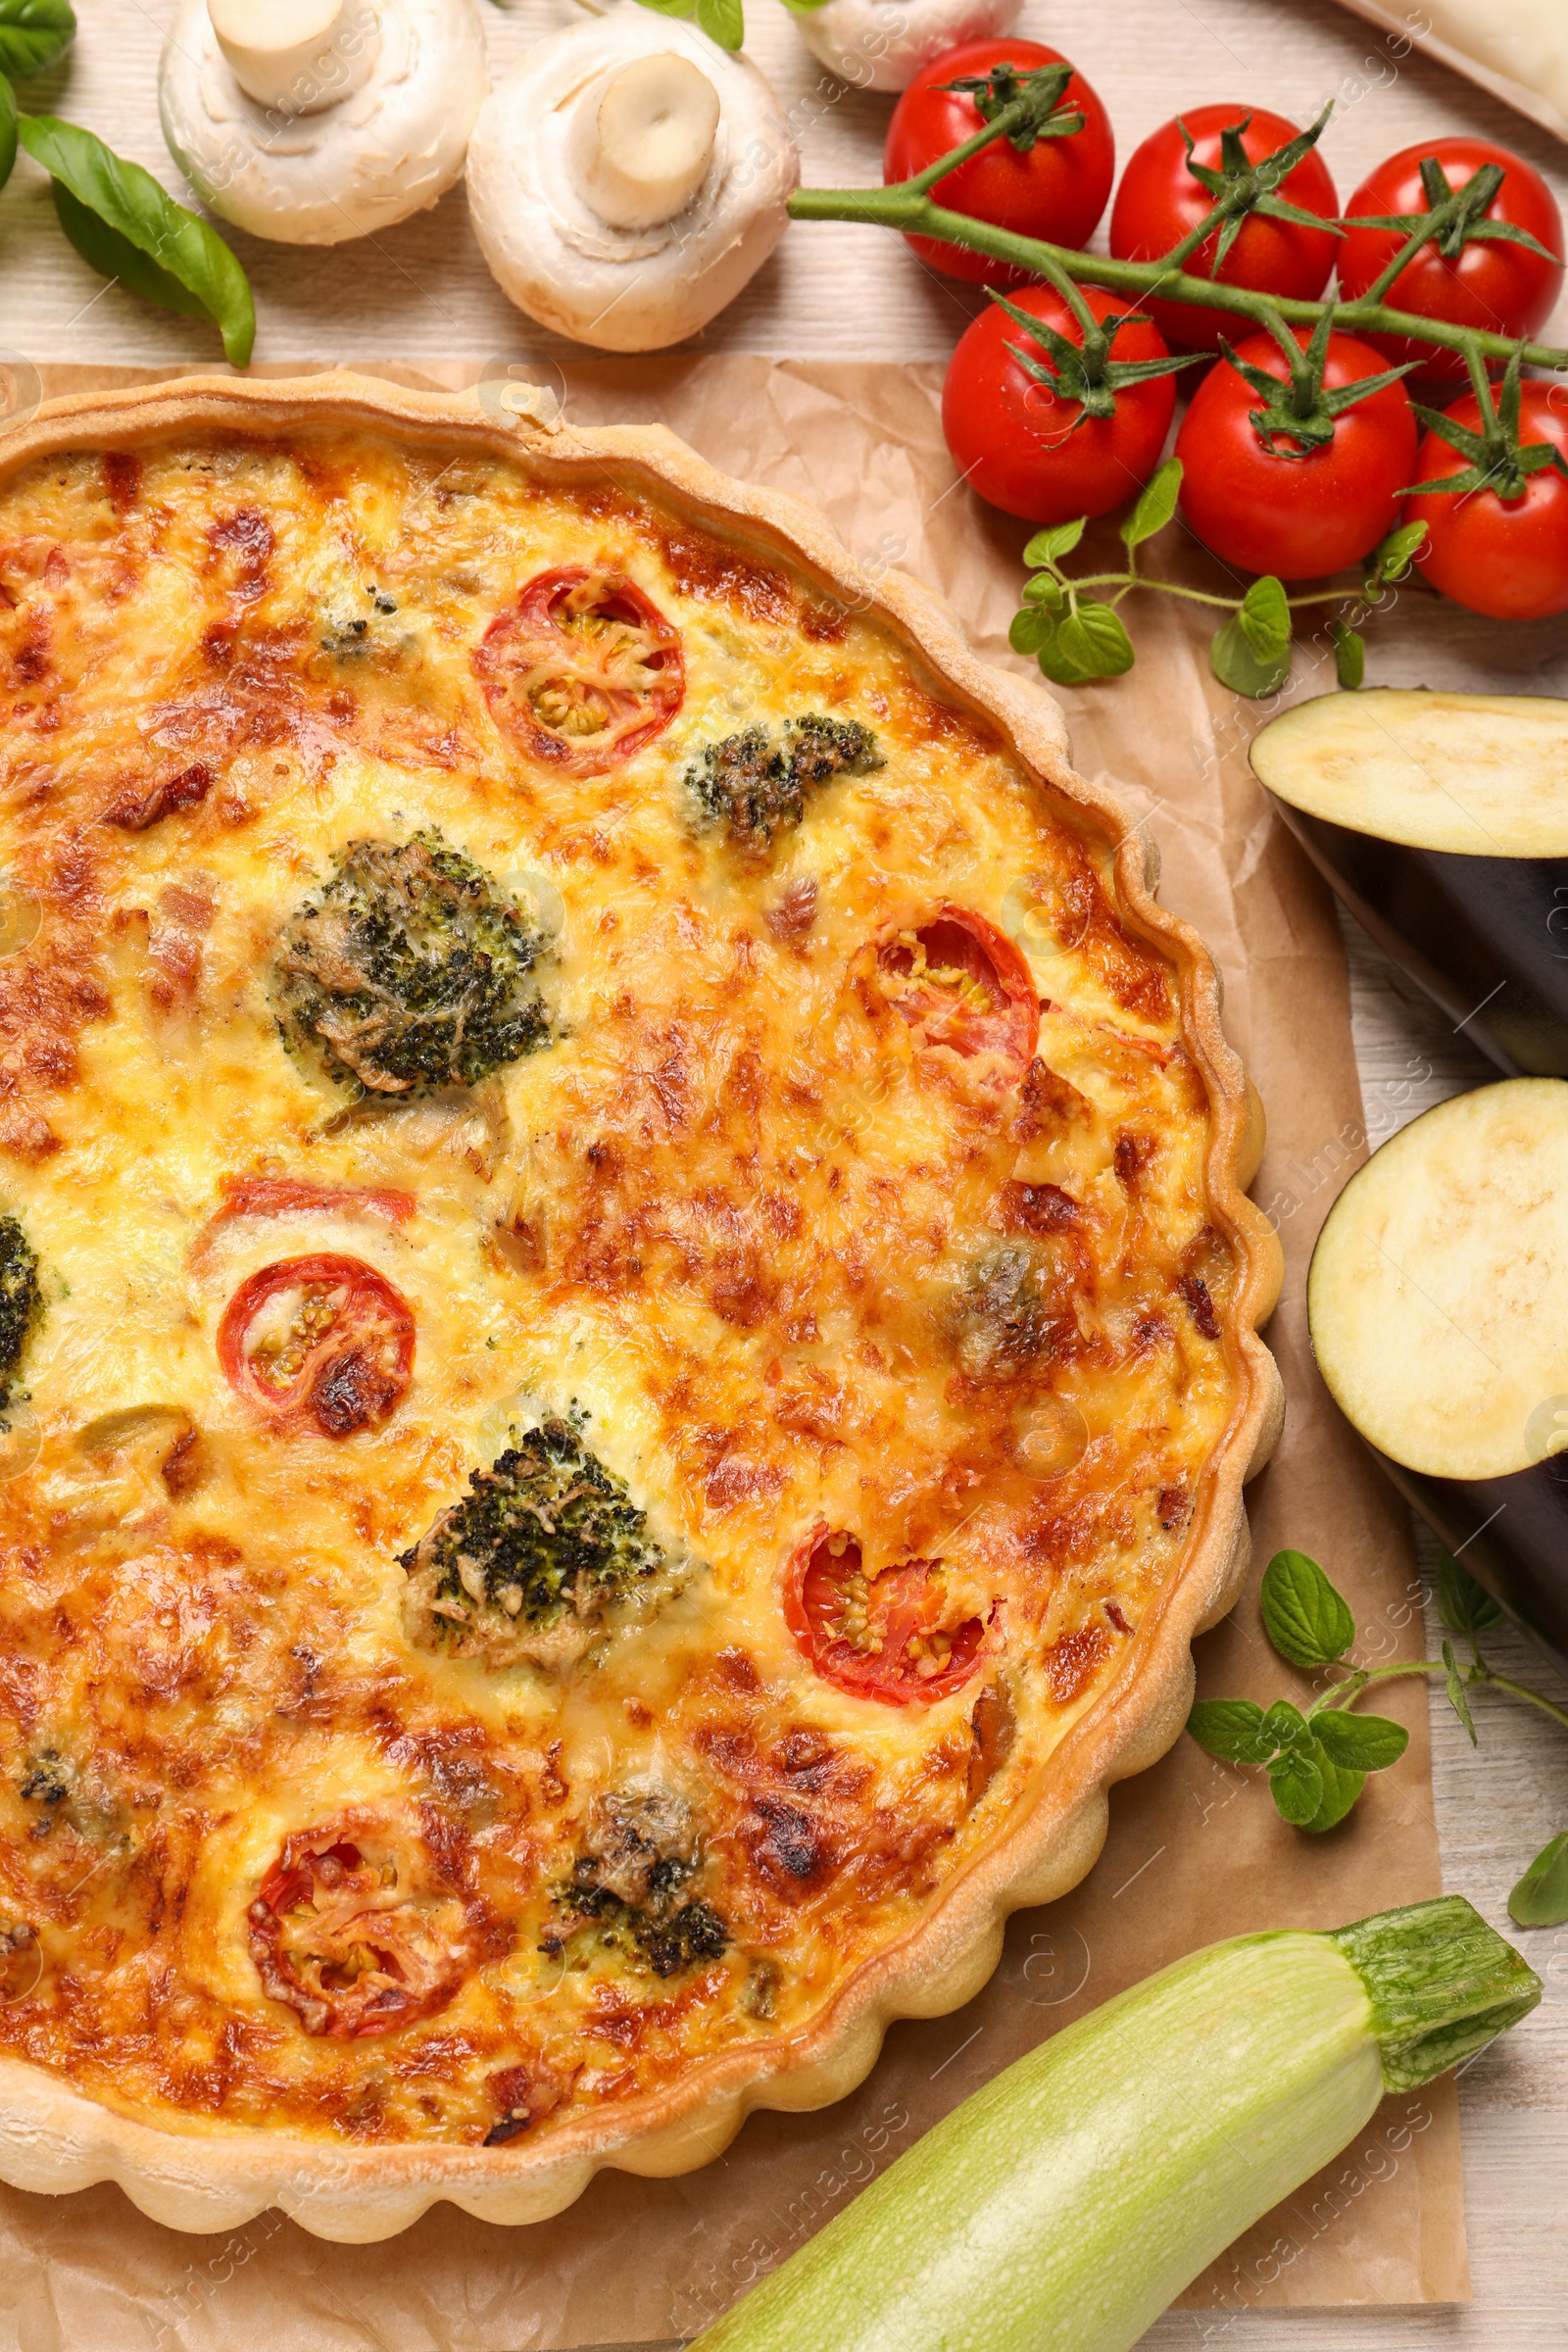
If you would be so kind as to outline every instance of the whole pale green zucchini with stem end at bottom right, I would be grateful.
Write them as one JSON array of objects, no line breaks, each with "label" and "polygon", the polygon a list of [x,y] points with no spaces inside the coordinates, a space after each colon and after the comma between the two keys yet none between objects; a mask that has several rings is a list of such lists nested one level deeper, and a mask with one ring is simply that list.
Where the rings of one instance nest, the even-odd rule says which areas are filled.
[{"label": "whole pale green zucchini with stem end at bottom right", "polygon": [[1385,2091],[1537,1999],[1460,1896],[1208,1945],[976,2091],[691,2352],[1126,2352]]}]

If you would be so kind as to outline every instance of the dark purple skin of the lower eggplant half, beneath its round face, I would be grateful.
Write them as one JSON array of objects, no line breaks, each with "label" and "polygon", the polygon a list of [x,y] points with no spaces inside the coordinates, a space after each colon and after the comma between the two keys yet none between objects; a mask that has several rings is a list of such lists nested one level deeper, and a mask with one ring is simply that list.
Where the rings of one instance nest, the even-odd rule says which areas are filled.
[{"label": "dark purple skin of the lower eggplant half, beneath its round face", "polygon": [[1432,1477],[1368,1446],[1406,1503],[1568,1672],[1568,1454],[1509,1477]]}]

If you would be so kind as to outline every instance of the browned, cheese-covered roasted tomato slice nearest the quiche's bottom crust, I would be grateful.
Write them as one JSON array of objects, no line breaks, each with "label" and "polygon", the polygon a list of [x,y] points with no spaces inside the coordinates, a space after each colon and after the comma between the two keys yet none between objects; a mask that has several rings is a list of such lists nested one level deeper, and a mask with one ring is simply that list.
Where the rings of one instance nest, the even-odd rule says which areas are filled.
[{"label": "browned, cheese-covered roasted tomato slice nearest the quiche's bottom crust", "polygon": [[343,1828],[284,1839],[249,1907],[249,1945],[308,2034],[388,2034],[444,2009],[468,1976],[468,1903],[430,1884],[411,1851]]}]

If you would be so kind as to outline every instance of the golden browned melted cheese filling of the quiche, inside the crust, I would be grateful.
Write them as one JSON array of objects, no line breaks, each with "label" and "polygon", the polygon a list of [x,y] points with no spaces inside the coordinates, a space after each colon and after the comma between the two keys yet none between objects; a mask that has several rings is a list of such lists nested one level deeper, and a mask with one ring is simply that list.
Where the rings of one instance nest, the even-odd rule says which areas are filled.
[{"label": "golden browned melted cheese filling of the quiche, inside the crust", "polygon": [[[475,668],[550,567],[679,637],[679,710],[599,774]],[[176,2129],[496,2140],[799,2030],[1117,1677],[1237,1399],[1208,1101],[1112,847],[778,557],[369,435],[19,475],[0,694],[38,927],[0,960],[0,1211],[42,1287],[0,1465],[0,2049]],[[738,847],[686,769],[804,713],[882,764]],[[550,1042],[355,1105],[284,1047],[275,941],[350,842],[418,830],[559,908]],[[900,1009],[952,908],[1023,957],[1027,1063]],[[244,1214],[244,1178],[341,1190]],[[348,1435],[219,1364],[235,1289],[322,1254],[416,1329]],[[559,1668],[414,1639],[400,1555],[571,1414],[670,1573]],[[813,1534],[860,1545],[839,1635],[936,1562],[971,1672],[823,1675]],[[693,1903],[670,1952],[649,1922]],[[277,1947],[313,1936],[306,1997]],[[435,2006],[322,2030],[367,1969]]]}]

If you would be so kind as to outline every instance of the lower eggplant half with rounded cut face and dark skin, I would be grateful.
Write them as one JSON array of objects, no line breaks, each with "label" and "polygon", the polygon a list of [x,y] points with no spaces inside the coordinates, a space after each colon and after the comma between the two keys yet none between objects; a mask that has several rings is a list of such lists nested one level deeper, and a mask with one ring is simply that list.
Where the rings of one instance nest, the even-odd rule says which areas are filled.
[{"label": "lower eggplant half with rounded cut face and dark skin", "polygon": [[1568,1663],[1568,1084],[1479,1087],[1373,1152],[1328,1211],[1307,1315],[1345,1418]]}]

